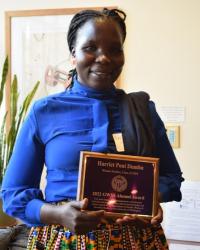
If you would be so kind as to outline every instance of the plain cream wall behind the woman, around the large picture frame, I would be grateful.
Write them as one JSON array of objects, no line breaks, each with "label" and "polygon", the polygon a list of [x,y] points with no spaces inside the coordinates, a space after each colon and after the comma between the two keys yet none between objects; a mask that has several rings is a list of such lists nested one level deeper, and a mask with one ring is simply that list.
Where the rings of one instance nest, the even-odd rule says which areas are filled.
[{"label": "plain cream wall behind the woman, around the large picture frame", "polygon": [[127,13],[126,64],[122,87],[145,90],[160,106],[184,106],[181,148],[175,153],[184,176],[200,180],[200,1],[199,0],[1,0],[0,63],[4,58],[4,11],[109,6]]}]

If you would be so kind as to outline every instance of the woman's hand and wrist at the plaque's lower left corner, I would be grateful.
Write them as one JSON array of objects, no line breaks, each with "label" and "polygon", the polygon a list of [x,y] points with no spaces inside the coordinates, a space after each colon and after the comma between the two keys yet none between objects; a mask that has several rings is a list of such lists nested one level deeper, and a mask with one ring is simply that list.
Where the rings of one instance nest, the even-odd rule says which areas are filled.
[{"label": "woman's hand and wrist at the plaque's lower left corner", "polygon": [[97,228],[104,211],[85,211],[88,200],[70,201],[62,205],[45,204],[41,208],[41,221],[45,224],[60,224],[71,232],[84,234]]}]

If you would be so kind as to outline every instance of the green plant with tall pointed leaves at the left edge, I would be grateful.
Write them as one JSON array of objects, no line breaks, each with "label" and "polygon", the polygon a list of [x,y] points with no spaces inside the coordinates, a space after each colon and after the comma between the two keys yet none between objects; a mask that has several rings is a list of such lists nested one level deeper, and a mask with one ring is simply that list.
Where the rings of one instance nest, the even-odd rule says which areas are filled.
[{"label": "green plant with tall pointed leaves at the left edge", "polygon": [[[6,58],[3,71],[2,71],[2,78],[1,78],[1,85],[0,85],[0,108],[4,100],[4,93],[5,93],[5,83],[6,78],[8,75],[8,57]],[[23,100],[22,104],[18,105],[18,81],[17,76],[14,75],[12,84],[11,84],[11,91],[10,91],[10,113],[5,111],[3,115],[3,119],[0,124],[0,185],[2,183],[3,175],[6,170],[6,166],[9,162],[9,159],[12,155],[13,147],[15,144],[15,140],[19,131],[19,128],[24,121],[26,116],[27,110],[30,106],[30,103],[37,91],[39,86],[39,82],[37,82],[34,88],[30,91],[30,93],[26,96]],[[10,126],[7,128],[6,126],[6,118],[10,115]]]}]

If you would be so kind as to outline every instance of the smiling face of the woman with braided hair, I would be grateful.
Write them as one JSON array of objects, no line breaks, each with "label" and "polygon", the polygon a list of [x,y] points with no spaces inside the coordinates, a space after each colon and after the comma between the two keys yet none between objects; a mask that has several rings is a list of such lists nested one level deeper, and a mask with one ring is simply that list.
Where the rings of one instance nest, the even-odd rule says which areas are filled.
[{"label": "smiling face of the woman with braided hair", "polygon": [[72,56],[82,84],[110,89],[124,65],[120,27],[109,19],[87,21],[77,32]]}]

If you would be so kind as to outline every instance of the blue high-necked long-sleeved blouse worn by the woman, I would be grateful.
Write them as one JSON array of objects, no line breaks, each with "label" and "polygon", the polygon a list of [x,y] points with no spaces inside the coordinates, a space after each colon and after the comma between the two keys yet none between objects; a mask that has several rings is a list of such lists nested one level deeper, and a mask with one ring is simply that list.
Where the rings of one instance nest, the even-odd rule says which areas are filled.
[{"label": "blue high-necked long-sleeved blouse worn by the woman", "polygon": [[[41,225],[44,202],[75,199],[80,151],[116,152],[112,133],[121,131],[124,91],[100,92],[75,80],[73,88],[36,101],[18,135],[2,184],[4,211],[27,225]],[[160,158],[163,201],[181,199],[180,171],[155,105],[149,102]],[[47,167],[45,194],[40,189]]]}]

